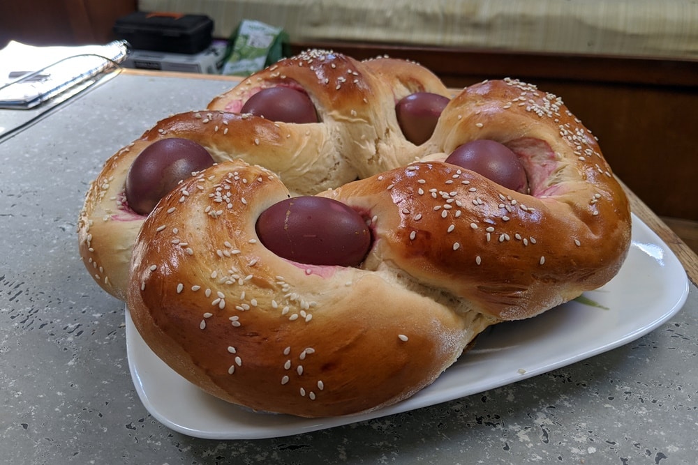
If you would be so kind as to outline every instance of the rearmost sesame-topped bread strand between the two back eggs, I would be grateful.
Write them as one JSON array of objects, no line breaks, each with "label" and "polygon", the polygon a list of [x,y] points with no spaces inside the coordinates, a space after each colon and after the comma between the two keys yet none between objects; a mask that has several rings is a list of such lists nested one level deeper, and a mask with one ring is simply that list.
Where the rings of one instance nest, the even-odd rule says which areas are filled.
[{"label": "rearmost sesame-topped bread strand between the two back eggs", "polygon": [[[357,173],[365,178],[406,165],[422,156],[402,134],[395,104],[415,92],[451,97],[429,70],[410,61],[377,58],[356,61],[313,50],[283,59],[209,103],[209,109],[239,112],[262,89],[290,86],[308,93],[318,109],[327,138]],[[424,145],[424,144],[422,144]]]}]

